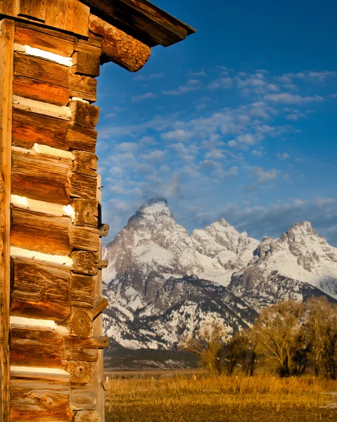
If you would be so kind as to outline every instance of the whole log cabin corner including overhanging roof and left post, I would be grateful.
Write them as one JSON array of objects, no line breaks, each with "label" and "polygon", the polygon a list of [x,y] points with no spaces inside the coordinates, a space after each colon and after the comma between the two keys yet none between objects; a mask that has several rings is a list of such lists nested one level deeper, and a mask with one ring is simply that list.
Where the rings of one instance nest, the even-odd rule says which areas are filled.
[{"label": "whole log cabin corner including overhanging roof and left post", "polygon": [[146,0],[0,0],[1,421],[104,421],[96,77],[193,32]]}]

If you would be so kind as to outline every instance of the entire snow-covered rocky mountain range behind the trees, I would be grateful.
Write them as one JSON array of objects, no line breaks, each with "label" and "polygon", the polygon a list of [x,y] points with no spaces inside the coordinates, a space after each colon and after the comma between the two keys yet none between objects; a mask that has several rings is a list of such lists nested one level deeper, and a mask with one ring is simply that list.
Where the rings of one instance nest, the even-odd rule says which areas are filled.
[{"label": "entire snow-covered rocky mountain range behind the trees", "polygon": [[262,242],[225,219],[188,231],[165,200],[151,200],[106,245],[104,327],[112,345],[174,350],[203,324],[228,335],[261,307],[287,298],[337,295],[337,248],[309,222]]}]

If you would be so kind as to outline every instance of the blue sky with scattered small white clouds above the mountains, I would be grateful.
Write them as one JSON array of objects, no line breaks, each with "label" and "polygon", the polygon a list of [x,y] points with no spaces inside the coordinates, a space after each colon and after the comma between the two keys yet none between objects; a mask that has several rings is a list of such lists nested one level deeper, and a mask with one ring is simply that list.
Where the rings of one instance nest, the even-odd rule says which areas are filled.
[{"label": "blue sky with scattered small white clouds above the mountains", "polygon": [[310,220],[337,246],[337,5],[157,0],[196,27],[142,70],[98,78],[103,217],[114,236],[166,198],[189,231],[250,236]]}]

